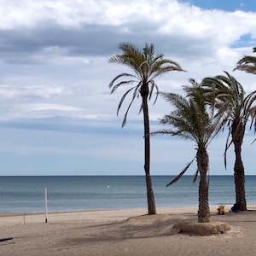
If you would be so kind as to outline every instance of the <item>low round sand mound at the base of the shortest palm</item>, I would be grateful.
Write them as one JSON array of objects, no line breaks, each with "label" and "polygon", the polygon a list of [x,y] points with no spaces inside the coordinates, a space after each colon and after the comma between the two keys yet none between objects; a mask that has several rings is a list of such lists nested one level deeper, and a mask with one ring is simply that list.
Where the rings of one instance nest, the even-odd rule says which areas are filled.
[{"label": "low round sand mound at the base of the shortest palm", "polygon": [[212,236],[217,234],[224,234],[231,230],[229,224],[221,222],[212,223],[178,223],[172,226],[174,230],[180,230],[182,233],[189,233],[199,236]]}]

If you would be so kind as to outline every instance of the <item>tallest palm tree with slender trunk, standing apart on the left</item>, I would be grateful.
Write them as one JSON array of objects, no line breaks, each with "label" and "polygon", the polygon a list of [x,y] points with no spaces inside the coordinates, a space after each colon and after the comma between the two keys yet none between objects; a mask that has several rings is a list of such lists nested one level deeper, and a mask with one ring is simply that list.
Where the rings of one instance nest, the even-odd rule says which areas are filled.
[{"label": "tallest palm tree with slender trunk, standing apart on the left", "polygon": [[148,115],[148,100],[151,99],[154,90],[158,96],[158,86],[154,79],[169,73],[171,71],[183,71],[183,69],[175,61],[164,58],[164,55],[154,54],[154,44],[145,44],[141,50],[135,45],[129,43],[119,44],[119,49],[122,50],[121,55],[114,55],[109,59],[110,63],[125,65],[131,69],[131,73],[120,73],[109,84],[111,93],[117,90],[120,86],[131,85],[125,94],[121,97],[119,102],[117,114],[121,108],[125,97],[131,93],[131,102],[125,112],[122,127],[125,126],[127,114],[131,108],[134,100],[141,96],[142,105],[139,113],[143,111],[144,121],[144,171],[146,176],[147,198],[148,198],[148,214],[155,214],[154,192],[152,180],[150,176],[150,137],[148,136],[149,130],[149,115]]}]

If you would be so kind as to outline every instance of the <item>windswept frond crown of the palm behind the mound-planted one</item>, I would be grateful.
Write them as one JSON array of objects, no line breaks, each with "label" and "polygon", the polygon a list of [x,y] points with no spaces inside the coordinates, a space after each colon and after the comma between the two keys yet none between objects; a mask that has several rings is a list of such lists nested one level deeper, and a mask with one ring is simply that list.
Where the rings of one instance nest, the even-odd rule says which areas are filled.
[{"label": "windswept frond crown of the palm behind the mound-planted one", "polygon": [[[256,91],[246,96],[243,86],[230,73],[224,73],[225,75],[203,79],[202,87],[207,92],[208,102],[211,102],[209,99],[212,96],[214,107],[218,109],[218,115],[223,117],[223,122],[229,127],[228,139],[233,132],[235,136],[242,135],[240,138],[242,140],[247,121],[254,117],[253,103],[256,99]],[[241,132],[238,132],[239,129]],[[228,143],[227,140],[225,153],[231,143],[233,141]]]}]

